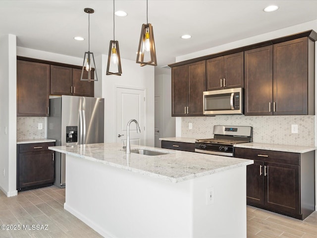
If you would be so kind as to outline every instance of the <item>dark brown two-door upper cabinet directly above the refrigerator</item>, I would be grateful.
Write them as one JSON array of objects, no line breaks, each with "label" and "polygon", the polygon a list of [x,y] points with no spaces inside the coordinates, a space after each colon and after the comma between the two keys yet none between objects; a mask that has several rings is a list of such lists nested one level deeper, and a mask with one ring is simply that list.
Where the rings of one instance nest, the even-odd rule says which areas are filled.
[{"label": "dark brown two-door upper cabinet directly above the refrigerator", "polygon": [[[94,97],[94,82],[81,81],[81,71],[79,68],[51,65],[51,94]],[[87,75],[84,70],[84,77]]]}]

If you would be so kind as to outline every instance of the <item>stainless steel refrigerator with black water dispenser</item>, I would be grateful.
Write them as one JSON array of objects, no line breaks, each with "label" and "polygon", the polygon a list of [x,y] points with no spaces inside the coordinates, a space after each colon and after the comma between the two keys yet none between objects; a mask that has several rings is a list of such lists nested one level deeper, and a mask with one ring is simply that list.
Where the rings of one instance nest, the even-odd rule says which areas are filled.
[{"label": "stainless steel refrigerator with black water dispenser", "polygon": [[[79,145],[104,142],[105,99],[61,96],[50,99],[48,138],[55,145]],[[65,187],[65,154],[55,152],[55,182]]]}]

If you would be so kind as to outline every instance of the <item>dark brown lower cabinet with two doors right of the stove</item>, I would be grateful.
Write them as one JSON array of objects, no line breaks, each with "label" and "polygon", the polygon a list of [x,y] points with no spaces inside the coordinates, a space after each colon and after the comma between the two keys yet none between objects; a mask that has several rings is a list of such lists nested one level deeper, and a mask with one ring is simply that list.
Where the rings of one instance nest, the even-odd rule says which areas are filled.
[{"label": "dark brown lower cabinet with two doors right of the stove", "polygon": [[235,148],[247,166],[247,204],[304,220],[315,210],[315,152]]}]

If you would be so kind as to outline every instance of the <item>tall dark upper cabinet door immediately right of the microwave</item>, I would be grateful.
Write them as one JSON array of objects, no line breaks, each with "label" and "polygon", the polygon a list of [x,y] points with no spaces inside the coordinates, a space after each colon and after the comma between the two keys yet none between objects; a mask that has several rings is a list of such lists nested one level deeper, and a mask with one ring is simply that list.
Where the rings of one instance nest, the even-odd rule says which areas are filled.
[{"label": "tall dark upper cabinet door immediately right of the microwave", "polygon": [[273,47],[266,46],[244,53],[245,115],[272,115]]}]

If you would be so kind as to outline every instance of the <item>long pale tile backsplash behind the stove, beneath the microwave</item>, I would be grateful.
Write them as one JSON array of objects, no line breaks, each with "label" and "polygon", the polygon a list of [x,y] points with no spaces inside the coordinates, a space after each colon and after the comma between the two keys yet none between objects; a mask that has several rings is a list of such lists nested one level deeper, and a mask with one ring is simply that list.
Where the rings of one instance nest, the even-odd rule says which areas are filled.
[{"label": "long pale tile backsplash behind the stove, beneath the microwave", "polygon": [[[188,128],[193,123],[193,128]],[[298,124],[298,133],[291,133],[291,125]],[[253,141],[283,145],[315,146],[315,116],[244,116],[183,117],[181,136],[213,137],[213,125],[253,126]]]}]

